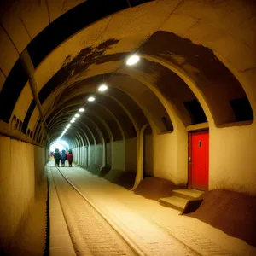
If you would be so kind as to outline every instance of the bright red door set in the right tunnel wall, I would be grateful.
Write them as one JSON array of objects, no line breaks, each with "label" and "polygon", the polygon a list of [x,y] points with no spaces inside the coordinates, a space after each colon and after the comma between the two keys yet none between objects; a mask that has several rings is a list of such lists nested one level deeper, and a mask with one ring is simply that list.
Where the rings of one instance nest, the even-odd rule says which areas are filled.
[{"label": "bright red door set in the right tunnel wall", "polygon": [[208,189],[209,131],[189,134],[189,180],[192,189]]}]

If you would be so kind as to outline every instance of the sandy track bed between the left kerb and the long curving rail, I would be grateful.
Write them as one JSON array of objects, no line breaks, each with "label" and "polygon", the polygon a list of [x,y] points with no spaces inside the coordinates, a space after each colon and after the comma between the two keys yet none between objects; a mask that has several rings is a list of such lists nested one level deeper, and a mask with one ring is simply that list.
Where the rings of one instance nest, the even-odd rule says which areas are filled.
[{"label": "sandy track bed between the left kerb and the long curving rail", "polygon": [[123,230],[84,196],[61,172],[52,173],[73,247],[78,255],[144,254]]}]

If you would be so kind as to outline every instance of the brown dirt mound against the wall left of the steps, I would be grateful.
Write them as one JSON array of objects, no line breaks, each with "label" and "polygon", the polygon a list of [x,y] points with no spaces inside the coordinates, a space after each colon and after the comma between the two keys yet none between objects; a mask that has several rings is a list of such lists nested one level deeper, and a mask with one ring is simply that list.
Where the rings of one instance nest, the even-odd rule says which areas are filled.
[{"label": "brown dirt mound against the wall left of the steps", "polygon": [[158,200],[161,197],[168,197],[172,195],[173,189],[182,189],[170,180],[159,177],[145,177],[141,183],[134,189],[134,193],[142,195],[145,198]]}]

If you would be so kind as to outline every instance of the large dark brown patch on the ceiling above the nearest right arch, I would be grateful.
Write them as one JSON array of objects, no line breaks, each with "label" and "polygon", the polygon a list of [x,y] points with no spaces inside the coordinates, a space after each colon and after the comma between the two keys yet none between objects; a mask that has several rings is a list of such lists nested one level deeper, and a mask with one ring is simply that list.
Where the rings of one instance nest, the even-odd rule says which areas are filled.
[{"label": "large dark brown patch on the ceiling above the nearest right arch", "polygon": [[[193,44],[190,39],[181,38],[172,32],[158,31],[148,39],[142,52],[171,61],[182,67],[189,76],[192,75],[217,125],[237,121],[230,100],[246,97],[246,93],[234,74],[218,60],[212,49]],[[252,107],[249,108],[252,112]]]}]

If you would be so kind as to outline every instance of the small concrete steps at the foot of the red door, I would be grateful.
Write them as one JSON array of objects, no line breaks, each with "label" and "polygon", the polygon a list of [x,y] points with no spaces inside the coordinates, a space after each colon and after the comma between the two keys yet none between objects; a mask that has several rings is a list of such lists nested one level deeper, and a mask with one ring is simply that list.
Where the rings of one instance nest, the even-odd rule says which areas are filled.
[{"label": "small concrete steps at the foot of the red door", "polygon": [[158,201],[161,205],[165,207],[172,207],[180,212],[183,212],[188,201],[194,203],[193,208],[199,207],[201,200],[197,200],[204,191],[195,190],[195,189],[176,189],[172,190],[172,196],[160,198]]}]

